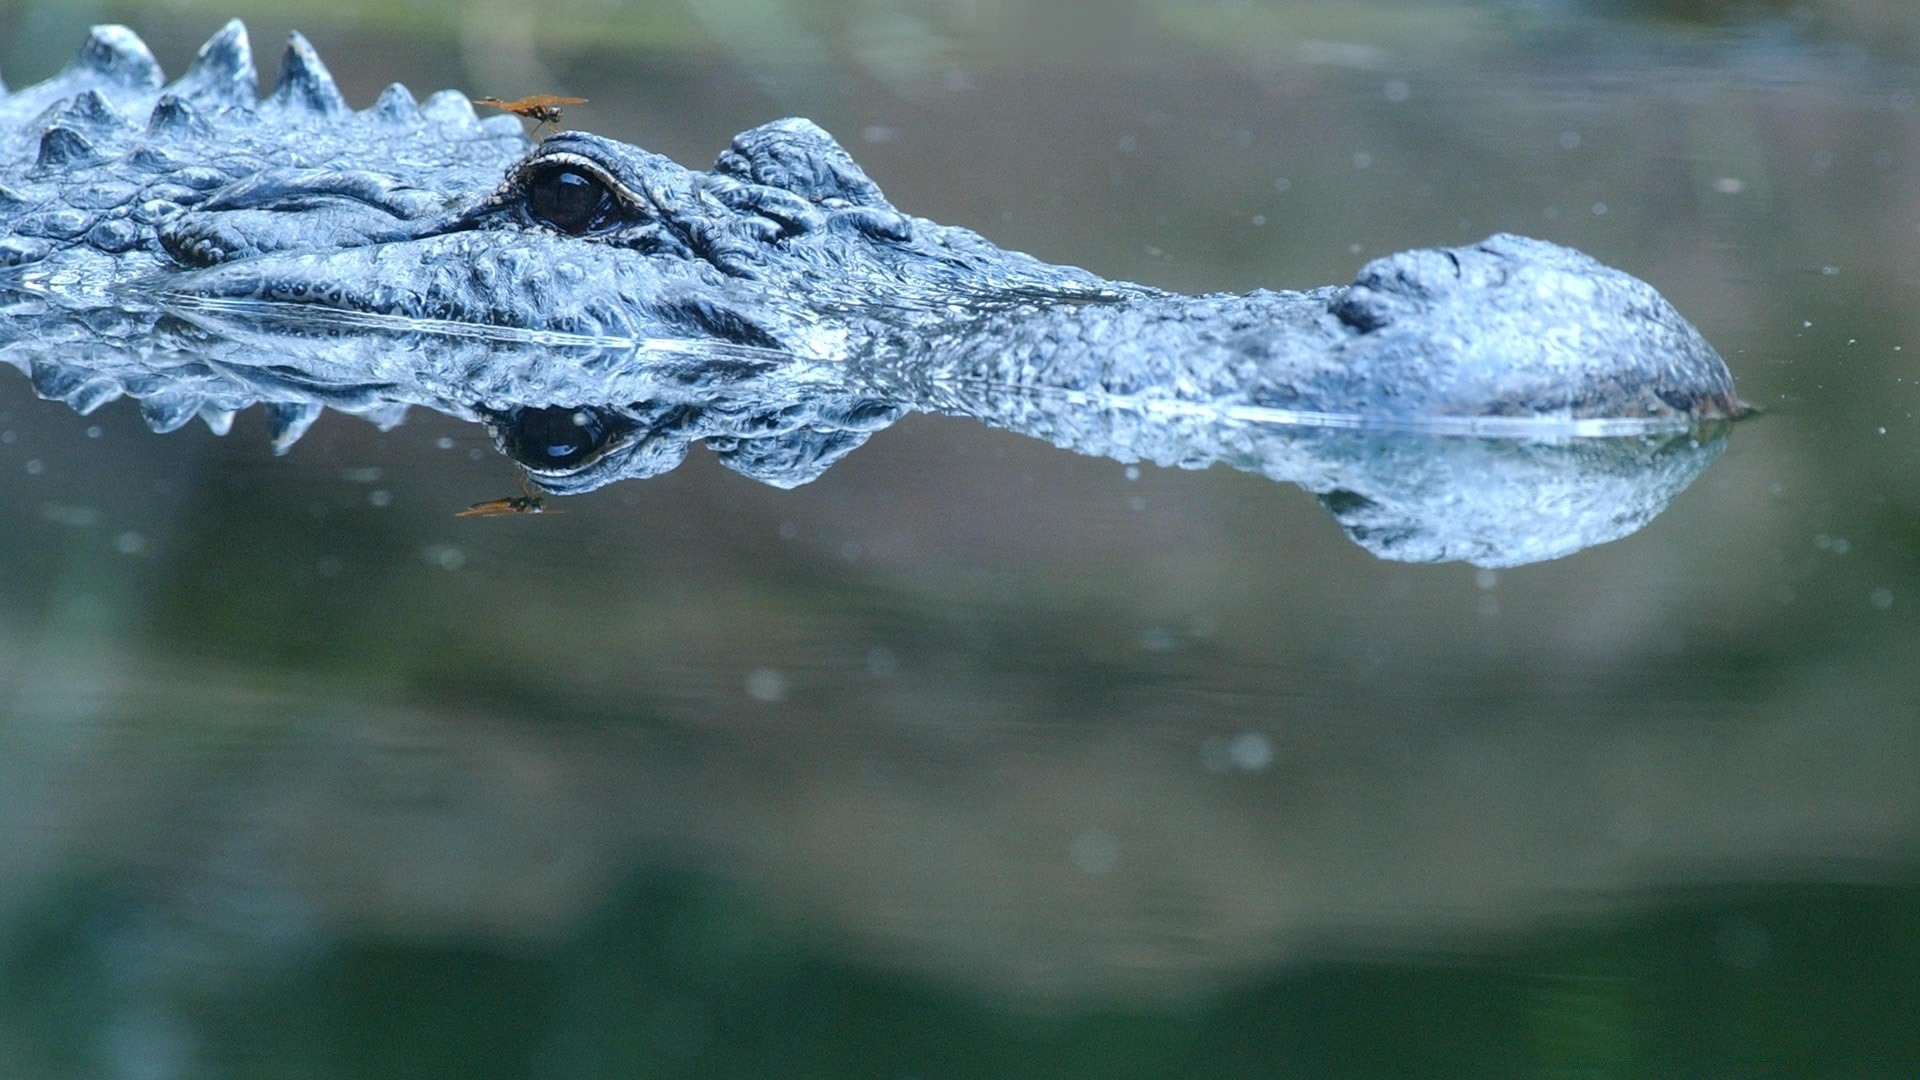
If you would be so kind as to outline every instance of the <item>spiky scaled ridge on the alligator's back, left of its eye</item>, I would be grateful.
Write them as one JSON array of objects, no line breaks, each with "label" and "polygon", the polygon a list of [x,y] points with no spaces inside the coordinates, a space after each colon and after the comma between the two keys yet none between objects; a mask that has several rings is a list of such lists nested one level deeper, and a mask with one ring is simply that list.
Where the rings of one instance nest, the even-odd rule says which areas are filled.
[{"label": "spiky scaled ridge on the alligator's back, left of its eye", "polygon": [[488,190],[528,148],[518,119],[482,121],[455,90],[415,102],[396,83],[353,111],[298,33],[273,92],[259,98],[255,83],[234,19],[173,83],[132,31],[94,27],[52,79],[0,85],[0,271],[142,273],[165,259],[161,225],[267,169],[351,161],[455,200]]}]

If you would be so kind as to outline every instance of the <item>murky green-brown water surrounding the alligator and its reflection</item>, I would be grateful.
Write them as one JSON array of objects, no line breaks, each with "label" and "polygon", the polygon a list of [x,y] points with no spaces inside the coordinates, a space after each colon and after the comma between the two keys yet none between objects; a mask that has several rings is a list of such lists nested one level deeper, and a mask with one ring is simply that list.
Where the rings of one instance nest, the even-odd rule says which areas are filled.
[{"label": "murky green-brown water surrounding the alligator and its reflection", "polygon": [[[169,71],[278,6],[0,0]],[[1905,4],[336,4],[355,104],[566,92],[1181,290],[1515,231],[1766,415],[1647,528],[1400,565],[1308,494],[908,417],[541,517],[484,432],[0,371],[0,1076],[1920,1068]],[[271,75],[269,75],[271,77]]]}]

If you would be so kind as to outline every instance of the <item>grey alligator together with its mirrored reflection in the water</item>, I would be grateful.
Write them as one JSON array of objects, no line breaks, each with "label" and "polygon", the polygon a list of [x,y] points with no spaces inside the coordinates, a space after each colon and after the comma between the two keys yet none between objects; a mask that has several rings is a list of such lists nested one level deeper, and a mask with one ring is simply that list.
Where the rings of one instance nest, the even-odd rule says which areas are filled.
[{"label": "grey alligator together with its mirrored reflection in the water", "polygon": [[[1484,565],[1638,528],[1745,411],[1649,284],[1544,240],[1181,296],[910,217],[804,119],[710,171],[578,131],[534,144],[451,90],[353,111],[298,33],[259,96],[240,21],[173,83],[96,27],[56,77],[0,85],[0,359],[81,411],[132,396],[156,430],[261,404],[280,452],[323,407],[426,405],[557,494],[693,442],[793,486],[908,411],[956,413],[1229,461],[1315,490],[1382,555]],[[1480,502],[1446,488],[1461,454]],[[1542,523],[1542,486],[1603,494]]]}]

